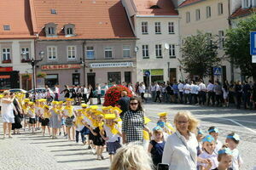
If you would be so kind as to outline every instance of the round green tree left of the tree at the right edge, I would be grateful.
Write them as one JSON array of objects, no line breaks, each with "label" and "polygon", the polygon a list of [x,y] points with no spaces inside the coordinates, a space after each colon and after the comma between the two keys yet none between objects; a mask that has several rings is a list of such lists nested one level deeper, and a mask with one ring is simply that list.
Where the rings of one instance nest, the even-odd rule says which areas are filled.
[{"label": "round green tree left of the tree at the right edge", "polygon": [[211,76],[212,67],[219,65],[221,59],[217,56],[218,41],[214,39],[216,38],[210,34],[201,32],[184,39],[181,64],[190,76]]}]

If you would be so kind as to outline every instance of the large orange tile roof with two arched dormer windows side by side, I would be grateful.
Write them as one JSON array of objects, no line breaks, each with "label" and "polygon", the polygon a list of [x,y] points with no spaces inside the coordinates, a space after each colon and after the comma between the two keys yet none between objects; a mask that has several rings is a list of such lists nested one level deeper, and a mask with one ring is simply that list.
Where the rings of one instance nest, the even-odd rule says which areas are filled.
[{"label": "large orange tile roof with two arched dormer windows side by side", "polygon": [[[33,30],[39,39],[135,38],[120,0],[30,0]],[[57,14],[51,14],[55,9]],[[57,24],[58,37],[45,37],[44,26]],[[75,25],[75,37],[65,37],[67,24]]]}]

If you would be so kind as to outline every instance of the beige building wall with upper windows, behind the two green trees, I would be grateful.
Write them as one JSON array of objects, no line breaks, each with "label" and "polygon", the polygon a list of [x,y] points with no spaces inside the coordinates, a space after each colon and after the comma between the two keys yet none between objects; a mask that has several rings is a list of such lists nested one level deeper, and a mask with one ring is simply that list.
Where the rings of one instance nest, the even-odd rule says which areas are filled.
[{"label": "beige building wall with upper windows, behind the two green trees", "polygon": [[[223,14],[218,14],[218,3],[223,3]],[[195,3],[189,6],[185,6],[183,8],[178,8],[179,14],[181,16],[180,21],[180,33],[181,40],[183,42],[183,38],[189,37],[190,35],[195,35],[197,31],[201,31],[203,33],[212,33],[212,36],[217,36],[218,39],[218,31],[224,31],[224,34],[227,29],[230,28],[228,18],[229,14],[229,5],[232,5],[232,10],[235,7],[239,6],[238,2],[232,1],[229,4],[229,1],[224,0],[207,0],[202,1],[201,3]],[[211,7],[211,17],[207,18],[207,7]],[[200,9],[201,20],[195,20],[195,10]],[[186,14],[190,13],[190,22],[187,23]],[[218,50],[218,57],[224,56],[224,50]],[[227,80],[231,80],[231,66],[230,62],[227,60],[222,60],[221,65],[226,66],[226,76]],[[222,77],[216,77],[221,80]]]}]

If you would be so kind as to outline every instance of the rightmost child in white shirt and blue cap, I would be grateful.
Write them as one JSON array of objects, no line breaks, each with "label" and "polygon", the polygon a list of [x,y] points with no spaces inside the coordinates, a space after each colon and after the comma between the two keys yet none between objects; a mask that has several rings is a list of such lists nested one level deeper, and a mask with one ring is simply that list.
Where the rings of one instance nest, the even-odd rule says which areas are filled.
[{"label": "rightmost child in white shirt and blue cap", "polygon": [[236,149],[237,145],[239,144],[240,138],[236,133],[230,133],[227,136],[226,143],[231,150],[232,153],[232,167],[233,170],[239,170],[242,164],[242,159],[239,154],[239,150]]}]

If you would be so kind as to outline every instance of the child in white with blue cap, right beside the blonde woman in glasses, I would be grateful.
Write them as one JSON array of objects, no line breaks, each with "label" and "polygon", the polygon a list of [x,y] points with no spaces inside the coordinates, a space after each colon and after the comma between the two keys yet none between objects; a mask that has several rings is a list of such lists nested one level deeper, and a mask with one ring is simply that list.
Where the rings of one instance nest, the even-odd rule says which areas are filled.
[{"label": "child in white with blue cap, right beside the blonde woman in glasses", "polygon": [[215,146],[215,139],[211,135],[207,135],[202,139],[203,152],[199,157],[210,160],[212,165],[198,162],[201,170],[215,169],[218,167],[217,154],[214,152]]}]

